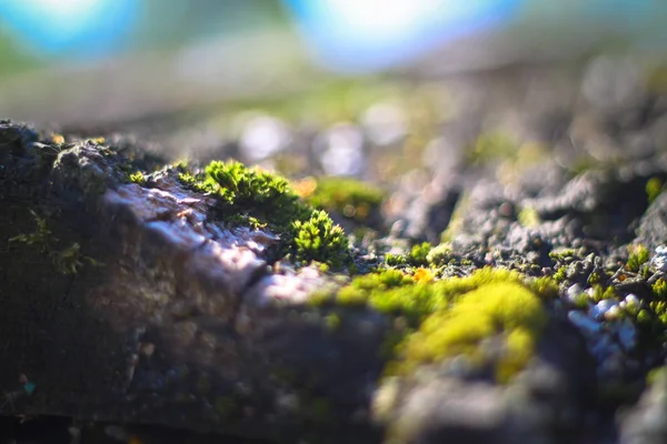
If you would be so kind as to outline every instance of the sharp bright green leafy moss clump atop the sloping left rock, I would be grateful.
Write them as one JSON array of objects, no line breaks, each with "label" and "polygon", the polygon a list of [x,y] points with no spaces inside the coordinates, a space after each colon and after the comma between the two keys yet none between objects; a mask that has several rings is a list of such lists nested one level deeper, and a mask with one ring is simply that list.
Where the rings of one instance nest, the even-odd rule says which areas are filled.
[{"label": "sharp bright green leafy moss clump atop the sloping left rock", "polygon": [[176,169],[186,186],[217,198],[218,213],[228,223],[285,233],[281,254],[334,268],[350,262],[344,230],[326,212],[300,202],[285,178],[239,162],[213,161],[199,173],[183,163]]}]

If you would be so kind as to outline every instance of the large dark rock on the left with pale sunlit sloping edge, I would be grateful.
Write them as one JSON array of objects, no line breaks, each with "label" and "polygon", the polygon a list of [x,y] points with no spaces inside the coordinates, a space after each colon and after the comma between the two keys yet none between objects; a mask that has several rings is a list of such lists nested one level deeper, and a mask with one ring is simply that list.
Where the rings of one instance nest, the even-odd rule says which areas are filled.
[{"label": "large dark rock on the left with pale sunlit sloping edge", "polygon": [[0,413],[368,442],[384,316],[331,329],[317,271],[269,272],[282,233],[230,228],[176,170],[131,183],[112,149],[39,139],[0,123]]}]

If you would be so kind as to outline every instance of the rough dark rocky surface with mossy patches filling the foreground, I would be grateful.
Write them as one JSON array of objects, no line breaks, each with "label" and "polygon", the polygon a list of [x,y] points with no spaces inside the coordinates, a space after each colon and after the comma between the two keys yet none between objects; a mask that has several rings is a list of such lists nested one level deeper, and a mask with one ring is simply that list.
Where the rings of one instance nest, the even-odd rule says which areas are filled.
[{"label": "rough dark rocky surface with mossy patches filling the foreground", "polygon": [[609,108],[583,75],[576,107],[489,92],[512,137],[461,88],[476,104],[406,165],[419,130],[387,103],[315,135],[253,118],[199,152],[285,164],[303,202],[305,174],[388,190],[318,196],[349,234],[336,263],[141,140],[2,122],[0,413],[74,418],[62,442],[663,442],[665,98]]}]

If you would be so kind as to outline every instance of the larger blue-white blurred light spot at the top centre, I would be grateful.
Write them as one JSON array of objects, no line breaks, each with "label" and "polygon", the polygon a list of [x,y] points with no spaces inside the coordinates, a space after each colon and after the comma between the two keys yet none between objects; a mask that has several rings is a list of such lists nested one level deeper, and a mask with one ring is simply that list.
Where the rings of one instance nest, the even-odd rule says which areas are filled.
[{"label": "larger blue-white blurred light spot at the top centre", "polygon": [[500,22],[520,0],[285,0],[327,67],[366,71],[405,62]]}]

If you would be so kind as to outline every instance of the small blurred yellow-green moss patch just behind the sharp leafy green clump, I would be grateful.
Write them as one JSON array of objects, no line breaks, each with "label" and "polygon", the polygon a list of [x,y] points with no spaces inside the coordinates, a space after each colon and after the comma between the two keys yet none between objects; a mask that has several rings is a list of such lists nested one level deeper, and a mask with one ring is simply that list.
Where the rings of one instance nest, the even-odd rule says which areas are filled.
[{"label": "small blurred yellow-green moss patch just behind the sharp leafy green clump", "polygon": [[307,179],[297,190],[312,206],[337,211],[357,222],[365,222],[377,212],[385,199],[379,188],[350,178]]}]

